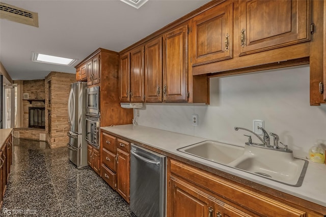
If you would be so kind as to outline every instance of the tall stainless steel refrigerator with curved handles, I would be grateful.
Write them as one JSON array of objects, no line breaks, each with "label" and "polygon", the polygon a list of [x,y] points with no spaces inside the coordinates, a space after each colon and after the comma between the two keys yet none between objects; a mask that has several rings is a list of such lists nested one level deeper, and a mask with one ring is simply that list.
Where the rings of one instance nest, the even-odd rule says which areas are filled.
[{"label": "tall stainless steel refrigerator with curved handles", "polygon": [[86,87],[87,82],[72,83],[68,100],[70,126],[68,156],[78,169],[88,165],[85,140]]}]

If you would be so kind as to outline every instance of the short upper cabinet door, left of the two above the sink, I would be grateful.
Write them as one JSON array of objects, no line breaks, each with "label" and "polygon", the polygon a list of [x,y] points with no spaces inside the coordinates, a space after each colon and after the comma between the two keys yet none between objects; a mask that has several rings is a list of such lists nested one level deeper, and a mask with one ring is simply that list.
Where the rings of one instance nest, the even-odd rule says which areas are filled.
[{"label": "short upper cabinet door, left of the two above the sink", "polygon": [[233,3],[226,2],[193,18],[193,66],[232,58]]}]

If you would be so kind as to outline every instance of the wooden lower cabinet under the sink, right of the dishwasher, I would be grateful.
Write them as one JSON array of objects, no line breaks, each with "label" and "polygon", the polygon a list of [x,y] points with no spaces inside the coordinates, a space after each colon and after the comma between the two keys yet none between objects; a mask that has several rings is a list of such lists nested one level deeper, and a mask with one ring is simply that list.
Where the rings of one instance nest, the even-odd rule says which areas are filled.
[{"label": "wooden lower cabinet under the sink, right of the dishwasher", "polygon": [[173,159],[167,179],[167,216],[323,216]]}]

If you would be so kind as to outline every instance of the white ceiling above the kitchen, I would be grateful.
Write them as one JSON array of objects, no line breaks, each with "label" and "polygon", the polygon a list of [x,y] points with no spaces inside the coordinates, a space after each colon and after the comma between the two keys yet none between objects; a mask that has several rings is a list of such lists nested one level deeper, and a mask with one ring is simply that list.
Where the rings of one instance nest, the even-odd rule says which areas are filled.
[{"label": "white ceiling above the kitchen", "polygon": [[[1,63],[13,80],[33,80],[51,71],[75,73],[73,66],[97,48],[119,52],[209,1],[149,0],[140,9],[119,0],[2,2],[38,13],[38,28],[0,19]],[[78,61],[34,63],[32,51]]]}]

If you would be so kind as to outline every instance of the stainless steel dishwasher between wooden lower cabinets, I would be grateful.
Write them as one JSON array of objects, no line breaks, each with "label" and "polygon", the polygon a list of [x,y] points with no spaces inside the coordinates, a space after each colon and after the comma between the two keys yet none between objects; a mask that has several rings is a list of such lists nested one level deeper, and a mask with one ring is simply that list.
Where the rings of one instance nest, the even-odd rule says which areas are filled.
[{"label": "stainless steel dishwasher between wooden lower cabinets", "polygon": [[138,217],[166,215],[166,156],[131,143],[130,209]]}]

